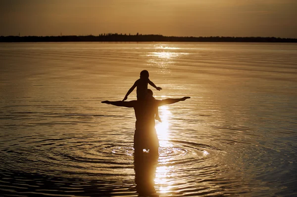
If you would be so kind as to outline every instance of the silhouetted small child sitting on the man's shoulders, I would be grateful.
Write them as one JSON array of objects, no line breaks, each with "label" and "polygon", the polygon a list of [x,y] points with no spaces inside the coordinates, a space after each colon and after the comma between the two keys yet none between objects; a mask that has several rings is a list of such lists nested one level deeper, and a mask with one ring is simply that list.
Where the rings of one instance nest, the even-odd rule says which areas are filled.
[{"label": "silhouetted small child sitting on the man's shoulders", "polygon": [[[137,79],[133,86],[128,90],[125,98],[122,101],[125,101],[128,99],[129,94],[135,89],[136,87],[136,93],[137,93],[137,100],[143,100],[146,98],[146,95],[148,93],[148,84],[150,84],[152,87],[156,88],[157,90],[161,90],[161,87],[157,87],[151,80],[148,79],[149,74],[147,70],[143,70],[140,72],[140,79]],[[159,117],[158,109],[155,111],[155,119],[162,122],[161,118]]]}]

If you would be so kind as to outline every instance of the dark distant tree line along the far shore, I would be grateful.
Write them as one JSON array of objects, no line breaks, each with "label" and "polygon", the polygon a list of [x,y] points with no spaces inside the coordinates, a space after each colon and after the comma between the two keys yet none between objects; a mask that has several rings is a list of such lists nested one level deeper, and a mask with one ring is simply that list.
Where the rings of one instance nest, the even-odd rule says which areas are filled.
[{"label": "dark distant tree line along the far shore", "polygon": [[297,39],[275,37],[174,37],[162,35],[100,34],[99,36],[0,36],[0,42],[92,42],[92,41],[169,41],[169,42],[297,42]]}]

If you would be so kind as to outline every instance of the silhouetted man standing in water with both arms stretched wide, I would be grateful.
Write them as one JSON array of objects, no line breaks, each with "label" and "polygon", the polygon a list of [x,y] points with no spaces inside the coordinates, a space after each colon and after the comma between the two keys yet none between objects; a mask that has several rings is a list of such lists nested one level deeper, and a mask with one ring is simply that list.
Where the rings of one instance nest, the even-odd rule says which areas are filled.
[{"label": "silhouetted man standing in water with both arms stretched wide", "polygon": [[146,99],[133,101],[102,101],[101,103],[111,104],[120,107],[134,108],[136,123],[134,133],[135,153],[142,153],[144,149],[150,153],[158,153],[159,141],[155,130],[155,109],[162,105],[169,105],[184,101],[190,97],[179,99],[155,100],[152,91],[148,90]]}]

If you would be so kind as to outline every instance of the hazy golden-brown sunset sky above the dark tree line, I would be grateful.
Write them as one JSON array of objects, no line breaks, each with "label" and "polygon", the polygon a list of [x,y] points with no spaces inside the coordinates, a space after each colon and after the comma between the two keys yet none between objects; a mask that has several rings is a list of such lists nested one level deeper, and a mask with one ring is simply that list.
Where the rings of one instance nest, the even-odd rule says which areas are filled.
[{"label": "hazy golden-brown sunset sky above the dark tree line", "polygon": [[297,38],[297,0],[0,0],[0,36]]}]

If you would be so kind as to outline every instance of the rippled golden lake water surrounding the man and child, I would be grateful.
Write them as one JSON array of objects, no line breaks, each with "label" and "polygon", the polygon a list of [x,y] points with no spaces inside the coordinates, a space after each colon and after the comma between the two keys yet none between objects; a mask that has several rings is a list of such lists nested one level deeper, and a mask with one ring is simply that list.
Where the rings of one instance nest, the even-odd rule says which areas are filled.
[{"label": "rippled golden lake water surrounding the man and child", "polygon": [[[122,100],[148,70],[159,157]],[[136,99],[134,91],[128,100]],[[297,196],[297,44],[1,43],[0,196]]]}]

